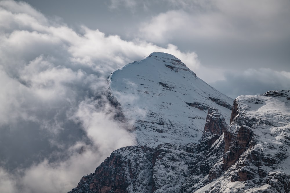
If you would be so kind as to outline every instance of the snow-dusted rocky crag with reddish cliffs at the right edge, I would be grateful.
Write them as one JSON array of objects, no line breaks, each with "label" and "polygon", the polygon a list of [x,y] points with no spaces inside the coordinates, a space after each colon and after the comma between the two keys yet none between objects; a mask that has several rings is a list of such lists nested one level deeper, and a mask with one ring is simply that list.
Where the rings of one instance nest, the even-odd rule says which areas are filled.
[{"label": "snow-dusted rocky crag with reddish cliffs at the right edge", "polygon": [[[270,128],[271,130],[273,126],[274,128],[277,127],[278,120],[271,119],[273,116],[271,115],[272,112],[263,112],[263,116],[260,116],[258,113],[255,114],[255,116],[251,116],[249,111],[256,110],[253,108],[257,108],[257,106],[267,106],[267,101],[271,102],[272,105],[275,104],[273,102],[276,102],[276,104],[281,102],[285,103],[285,100],[273,100],[273,98],[269,97],[287,99],[288,95],[289,92],[287,91],[269,91],[261,96],[247,96],[242,97],[243,100],[235,100],[232,111],[232,117],[234,115],[235,118],[232,120],[231,127],[224,134],[225,154],[223,159],[223,170],[227,170],[233,164],[235,164],[235,168],[238,168],[237,173],[231,176],[231,181],[248,181],[257,177],[263,179],[267,177],[267,170],[265,170],[263,166],[271,166],[273,168],[274,165],[281,163],[283,159],[287,158],[288,153],[286,147],[277,147],[277,144],[281,142],[274,142],[273,139],[270,140],[275,144],[267,145],[267,149],[270,147],[272,152],[274,150],[271,154],[265,154],[264,148],[261,148],[261,144],[259,144],[260,142],[262,142],[262,144],[268,144],[267,140],[259,140],[261,135],[267,134],[266,128]],[[264,96],[267,97],[265,98]],[[241,104],[239,104],[238,101],[240,101]],[[239,109],[243,111],[240,112]],[[275,113],[274,116],[277,115],[278,113]],[[282,116],[284,117],[285,115],[282,114]],[[260,133],[259,130],[262,132]],[[269,134],[267,138],[271,137],[271,132]],[[241,156],[242,154],[243,156]],[[237,162],[238,159],[240,159],[240,161]]]}]

